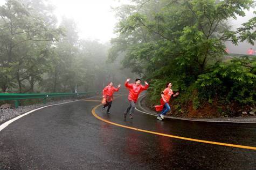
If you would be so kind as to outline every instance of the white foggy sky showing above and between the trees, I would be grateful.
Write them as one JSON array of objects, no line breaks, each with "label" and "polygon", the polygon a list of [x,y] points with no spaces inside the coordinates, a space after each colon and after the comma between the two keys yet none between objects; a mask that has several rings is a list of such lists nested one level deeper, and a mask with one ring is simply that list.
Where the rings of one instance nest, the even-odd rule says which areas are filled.
[{"label": "white foggy sky showing above and between the trees", "polygon": [[[48,0],[49,4],[54,6],[54,14],[61,23],[61,19],[65,16],[72,18],[78,27],[79,37],[81,39],[98,40],[101,43],[109,42],[115,38],[114,27],[117,23],[115,12],[112,8],[128,4],[128,0]],[[5,0],[0,0],[0,5],[3,5]],[[245,17],[238,17],[237,20],[230,19],[229,23],[236,29],[249,18],[255,17],[253,11],[255,9],[245,10]],[[247,42],[240,42],[238,46],[232,45],[231,42],[226,42],[230,53],[246,54],[249,48],[255,46],[249,45]],[[256,48],[255,48],[256,50]]]}]

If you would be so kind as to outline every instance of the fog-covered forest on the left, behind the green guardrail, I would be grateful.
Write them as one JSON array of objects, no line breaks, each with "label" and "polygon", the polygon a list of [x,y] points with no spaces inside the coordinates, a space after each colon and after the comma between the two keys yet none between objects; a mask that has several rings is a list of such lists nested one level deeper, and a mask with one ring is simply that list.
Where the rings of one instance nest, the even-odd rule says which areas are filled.
[{"label": "fog-covered forest on the left, behind the green guardrail", "polygon": [[85,92],[129,75],[120,61],[106,62],[110,43],[80,39],[75,21],[53,11],[44,0],[0,7],[1,93]]}]

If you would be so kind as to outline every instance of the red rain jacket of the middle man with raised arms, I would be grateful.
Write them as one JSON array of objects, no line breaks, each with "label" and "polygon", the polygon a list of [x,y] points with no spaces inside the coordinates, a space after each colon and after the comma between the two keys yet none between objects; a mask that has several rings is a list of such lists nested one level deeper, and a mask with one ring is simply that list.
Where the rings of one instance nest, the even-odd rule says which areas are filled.
[{"label": "red rain jacket of the middle man with raised arms", "polygon": [[129,90],[129,96],[128,96],[128,100],[130,101],[134,101],[136,102],[139,94],[143,91],[143,90],[147,90],[147,88],[149,87],[149,85],[139,85],[136,86],[134,83],[133,84],[129,84],[128,82],[124,83],[124,85],[128,88]]}]

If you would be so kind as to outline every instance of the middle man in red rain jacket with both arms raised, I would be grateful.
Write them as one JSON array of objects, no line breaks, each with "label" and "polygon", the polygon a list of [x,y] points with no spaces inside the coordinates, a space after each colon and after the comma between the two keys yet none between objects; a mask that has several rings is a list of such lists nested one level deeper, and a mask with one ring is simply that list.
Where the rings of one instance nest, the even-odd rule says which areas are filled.
[{"label": "middle man in red rain jacket with both arms raised", "polygon": [[135,80],[135,83],[129,84],[128,82],[130,81],[130,78],[127,78],[126,83],[124,85],[128,88],[129,90],[129,95],[128,95],[128,100],[129,100],[129,106],[127,107],[126,111],[124,112],[124,119],[126,119],[127,113],[130,111],[130,119],[133,119],[133,112],[135,108],[136,101],[139,97],[139,94],[143,90],[147,90],[149,87],[148,83],[145,81],[145,86],[141,85],[141,79],[137,78]]}]

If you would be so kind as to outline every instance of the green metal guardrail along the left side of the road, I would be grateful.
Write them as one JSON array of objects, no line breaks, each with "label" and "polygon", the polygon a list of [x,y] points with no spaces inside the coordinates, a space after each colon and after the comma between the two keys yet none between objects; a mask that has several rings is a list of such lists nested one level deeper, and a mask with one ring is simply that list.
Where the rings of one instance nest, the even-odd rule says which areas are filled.
[{"label": "green metal guardrail along the left side of the road", "polygon": [[22,99],[43,99],[43,103],[46,104],[47,98],[54,97],[72,97],[72,96],[82,96],[86,94],[97,93],[98,91],[89,91],[82,93],[31,93],[31,94],[22,94],[22,93],[0,93],[0,100],[15,100],[15,108],[19,106],[19,100]]}]

